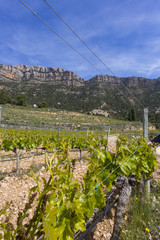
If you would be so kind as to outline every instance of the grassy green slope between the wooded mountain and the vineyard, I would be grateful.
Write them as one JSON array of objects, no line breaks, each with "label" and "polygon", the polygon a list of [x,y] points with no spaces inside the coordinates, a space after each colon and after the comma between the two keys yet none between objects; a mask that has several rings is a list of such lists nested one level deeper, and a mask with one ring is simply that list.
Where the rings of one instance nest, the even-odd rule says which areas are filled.
[{"label": "grassy green slope between the wooded mountain and the vineyard", "polygon": [[[142,128],[141,122],[129,122],[106,118],[104,116],[91,116],[85,113],[69,112],[57,110],[54,108],[38,109],[33,107],[20,107],[12,105],[2,106],[2,122],[7,125],[21,127],[37,127],[37,128],[58,128],[59,123],[61,128],[63,125],[73,130],[79,128],[104,130],[108,128],[109,123],[112,125],[112,130],[124,130],[126,125],[128,130]],[[114,126],[113,126],[114,125]]]}]

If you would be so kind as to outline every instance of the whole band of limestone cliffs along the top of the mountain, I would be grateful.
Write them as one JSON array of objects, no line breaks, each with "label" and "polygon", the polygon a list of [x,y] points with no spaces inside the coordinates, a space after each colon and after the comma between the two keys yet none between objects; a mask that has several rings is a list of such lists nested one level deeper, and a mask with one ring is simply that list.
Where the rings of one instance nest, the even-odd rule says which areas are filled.
[{"label": "whole band of limestone cliffs along the top of the mountain", "polygon": [[109,75],[96,75],[88,81],[80,78],[76,73],[64,70],[59,67],[41,67],[28,65],[4,65],[0,64],[1,82],[26,82],[29,84],[46,83],[48,85],[62,85],[83,87],[98,84],[103,86],[106,83],[120,84],[127,87],[148,87],[160,84],[160,78],[147,79],[142,77],[119,78]]}]

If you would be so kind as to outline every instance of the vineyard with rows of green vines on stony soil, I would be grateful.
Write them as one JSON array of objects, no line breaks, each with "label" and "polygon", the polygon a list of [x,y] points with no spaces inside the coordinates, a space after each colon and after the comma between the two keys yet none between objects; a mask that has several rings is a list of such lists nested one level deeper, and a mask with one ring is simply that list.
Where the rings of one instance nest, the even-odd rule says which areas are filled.
[{"label": "vineyard with rows of green vines on stony soil", "polygon": [[43,168],[30,172],[28,200],[14,222],[12,203],[1,206],[0,239],[87,239],[83,234],[93,229],[95,212],[101,217],[112,204],[117,207],[111,239],[119,239],[134,186],[142,186],[157,167],[154,148],[142,137],[119,136],[114,151],[102,132],[1,129],[0,138],[2,174],[13,164],[21,178],[29,156],[37,155]]}]

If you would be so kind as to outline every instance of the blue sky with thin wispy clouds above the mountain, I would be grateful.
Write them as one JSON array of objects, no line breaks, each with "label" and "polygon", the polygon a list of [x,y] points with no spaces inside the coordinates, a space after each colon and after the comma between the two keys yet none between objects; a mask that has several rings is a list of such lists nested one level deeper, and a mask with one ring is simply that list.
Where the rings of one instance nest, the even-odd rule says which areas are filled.
[{"label": "blue sky with thin wispy clouds above the mountain", "polygon": [[0,64],[60,67],[88,80],[95,75],[160,77],[159,0],[23,0],[81,53],[73,51],[19,0],[0,0]]}]

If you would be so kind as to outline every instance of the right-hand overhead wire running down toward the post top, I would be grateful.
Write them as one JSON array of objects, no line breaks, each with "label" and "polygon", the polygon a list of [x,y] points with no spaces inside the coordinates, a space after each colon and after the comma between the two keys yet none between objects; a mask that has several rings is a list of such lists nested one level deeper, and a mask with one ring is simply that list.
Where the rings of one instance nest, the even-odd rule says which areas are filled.
[{"label": "right-hand overhead wire running down toward the post top", "polygon": [[[93,52],[93,50],[82,40],[82,38],[70,27],[70,25],[57,13],[57,11],[46,1],[43,0],[48,7],[57,15],[58,18],[61,19],[61,21],[71,30],[71,32],[85,45],[85,47],[108,69],[108,71],[113,75],[116,76],[115,73]],[[123,87],[132,95],[132,97],[134,97],[137,102],[144,108],[144,106],[142,105],[142,103],[139,101],[139,99],[132,94],[132,92],[122,83],[120,82]]]}]

